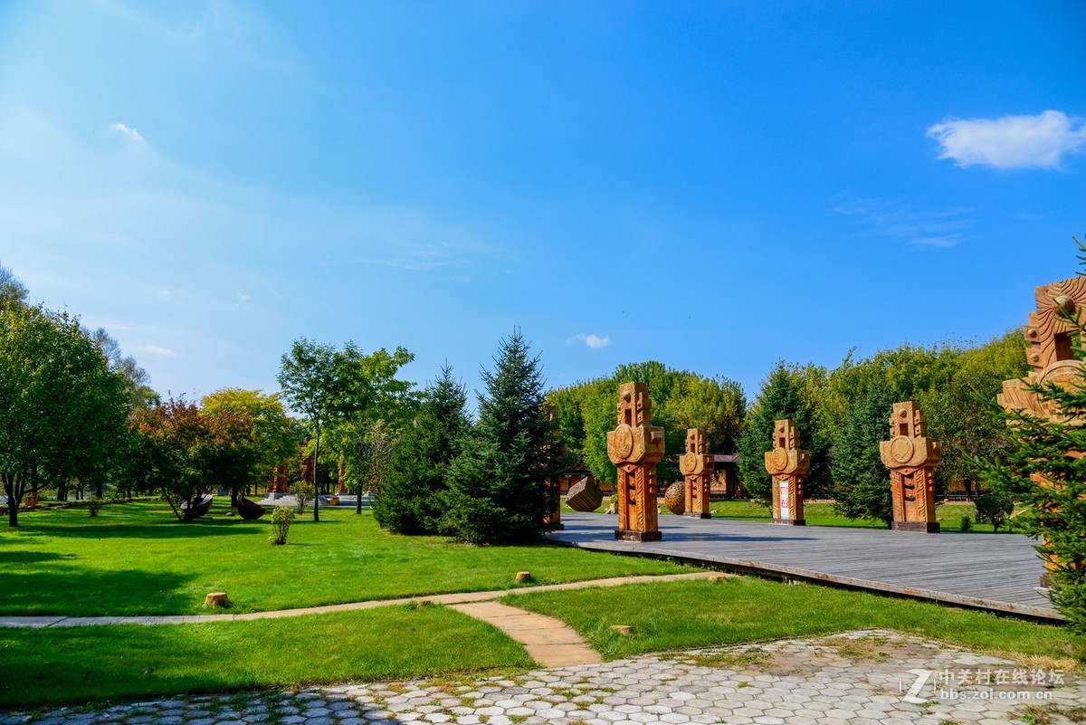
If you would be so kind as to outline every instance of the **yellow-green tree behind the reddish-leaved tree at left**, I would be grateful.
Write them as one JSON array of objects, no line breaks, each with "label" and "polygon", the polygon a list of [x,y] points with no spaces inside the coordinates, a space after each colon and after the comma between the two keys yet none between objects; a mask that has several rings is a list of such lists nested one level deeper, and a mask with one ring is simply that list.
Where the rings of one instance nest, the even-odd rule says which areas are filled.
[{"label": "yellow-green tree behind the reddish-leaved tree at left", "polygon": [[250,486],[266,481],[269,472],[298,451],[301,434],[294,420],[283,410],[279,394],[264,395],[261,391],[226,387],[215,391],[201,402],[205,415],[228,412],[252,421],[254,466],[230,487],[230,504],[237,506],[238,495]]}]

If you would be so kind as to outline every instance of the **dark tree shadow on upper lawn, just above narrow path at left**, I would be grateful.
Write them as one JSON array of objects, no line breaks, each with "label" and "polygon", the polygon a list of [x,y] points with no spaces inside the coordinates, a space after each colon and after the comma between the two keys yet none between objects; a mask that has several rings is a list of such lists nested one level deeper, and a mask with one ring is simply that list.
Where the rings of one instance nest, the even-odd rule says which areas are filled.
[{"label": "dark tree shadow on upper lawn, just above narrow path at left", "polygon": [[0,613],[36,616],[97,616],[113,613],[117,601],[126,614],[182,611],[191,603],[190,576],[140,570],[102,571],[64,567],[20,573],[0,557]]}]

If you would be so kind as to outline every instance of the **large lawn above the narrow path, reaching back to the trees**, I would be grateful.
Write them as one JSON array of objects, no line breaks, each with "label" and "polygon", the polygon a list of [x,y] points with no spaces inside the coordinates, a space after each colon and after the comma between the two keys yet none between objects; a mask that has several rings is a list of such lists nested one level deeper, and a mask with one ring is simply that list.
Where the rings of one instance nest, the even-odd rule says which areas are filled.
[{"label": "large lawn above the narrow path, reaching back to the trees", "polygon": [[433,536],[395,536],[372,516],[323,509],[272,546],[270,517],[243,521],[212,510],[180,523],[164,503],[29,511],[0,529],[0,614],[191,614],[226,592],[232,612],[480,592],[606,576],[692,571],[664,561],[560,546],[477,547]]}]

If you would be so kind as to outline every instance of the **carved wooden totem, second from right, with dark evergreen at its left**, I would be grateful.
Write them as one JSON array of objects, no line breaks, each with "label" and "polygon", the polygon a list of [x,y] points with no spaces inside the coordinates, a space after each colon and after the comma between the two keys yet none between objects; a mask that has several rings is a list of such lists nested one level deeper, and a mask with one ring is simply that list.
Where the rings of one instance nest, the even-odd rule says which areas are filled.
[{"label": "carved wooden totem, second from right, with dark evergreen at its left", "polygon": [[935,521],[934,469],[942,453],[938,441],[926,437],[927,420],[912,400],[895,403],[889,417],[889,441],[879,444],[879,456],[889,469],[894,498],[891,529],[939,533]]}]

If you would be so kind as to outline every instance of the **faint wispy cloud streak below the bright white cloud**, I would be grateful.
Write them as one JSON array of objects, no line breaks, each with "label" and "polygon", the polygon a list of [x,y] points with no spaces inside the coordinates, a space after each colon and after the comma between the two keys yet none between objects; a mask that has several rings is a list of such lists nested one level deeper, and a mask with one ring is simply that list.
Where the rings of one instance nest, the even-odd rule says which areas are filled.
[{"label": "faint wispy cloud streak below the bright white cloud", "polygon": [[954,246],[973,224],[967,216],[972,209],[920,211],[900,200],[847,200],[834,211],[854,217],[868,233],[918,246]]}]

